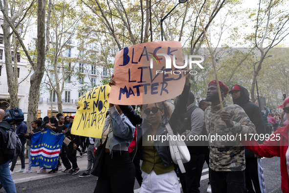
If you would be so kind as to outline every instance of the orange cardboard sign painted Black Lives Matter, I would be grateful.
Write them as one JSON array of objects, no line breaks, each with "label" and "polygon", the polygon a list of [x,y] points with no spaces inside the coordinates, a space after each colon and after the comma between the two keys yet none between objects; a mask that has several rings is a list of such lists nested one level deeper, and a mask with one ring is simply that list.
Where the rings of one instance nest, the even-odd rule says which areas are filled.
[{"label": "orange cardboard sign painted Black Lives Matter", "polygon": [[[117,52],[109,102],[148,104],[174,98],[185,83],[180,42],[148,42]],[[188,73],[188,72],[187,72]]]}]

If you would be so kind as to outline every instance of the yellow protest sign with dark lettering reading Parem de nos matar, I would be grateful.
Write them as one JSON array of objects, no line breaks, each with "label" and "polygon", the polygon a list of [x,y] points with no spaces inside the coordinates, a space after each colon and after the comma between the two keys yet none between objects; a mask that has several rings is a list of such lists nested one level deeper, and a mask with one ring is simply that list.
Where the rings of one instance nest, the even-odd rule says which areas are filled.
[{"label": "yellow protest sign with dark lettering reading Parem de nos matar", "polygon": [[106,113],[109,109],[109,85],[94,88],[80,96],[71,134],[91,138],[101,138]]}]

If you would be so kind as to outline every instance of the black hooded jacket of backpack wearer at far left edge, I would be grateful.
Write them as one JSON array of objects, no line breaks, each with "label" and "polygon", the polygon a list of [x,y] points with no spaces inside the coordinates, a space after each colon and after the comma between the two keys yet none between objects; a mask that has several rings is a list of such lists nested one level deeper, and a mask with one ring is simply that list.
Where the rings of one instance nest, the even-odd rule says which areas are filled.
[{"label": "black hooded jacket of backpack wearer at far left edge", "polygon": [[8,136],[6,131],[12,130],[11,125],[6,121],[0,122],[0,165],[9,161],[7,156],[4,155],[4,150],[7,147]]}]

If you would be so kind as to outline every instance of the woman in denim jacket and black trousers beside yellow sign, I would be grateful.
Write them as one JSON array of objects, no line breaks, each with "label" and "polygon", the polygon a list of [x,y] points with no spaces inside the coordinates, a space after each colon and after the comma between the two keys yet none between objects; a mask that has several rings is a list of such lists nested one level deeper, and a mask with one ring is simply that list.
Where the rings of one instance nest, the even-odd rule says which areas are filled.
[{"label": "woman in denim jacket and black trousers beside yellow sign", "polygon": [[110,104],[110,115],[107,116],[102,139],[105,153],[101,172],[94,193],[133,193],[135,168],[128,153],[128,147],[133,141],[135,127],[121,112],[118,105]]}]

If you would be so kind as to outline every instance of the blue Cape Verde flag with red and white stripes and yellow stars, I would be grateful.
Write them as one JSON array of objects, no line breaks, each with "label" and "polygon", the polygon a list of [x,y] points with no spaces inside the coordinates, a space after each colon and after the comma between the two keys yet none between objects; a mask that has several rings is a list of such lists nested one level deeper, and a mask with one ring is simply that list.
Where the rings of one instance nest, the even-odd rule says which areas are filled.
[{"label": "blue Cape Verde flag with red and white stripes and yellow stars", "polygon": [[49,128],[33,134],[29,160],[31,166],[55,169],[62,143],[63,134],[57,134]]}]

